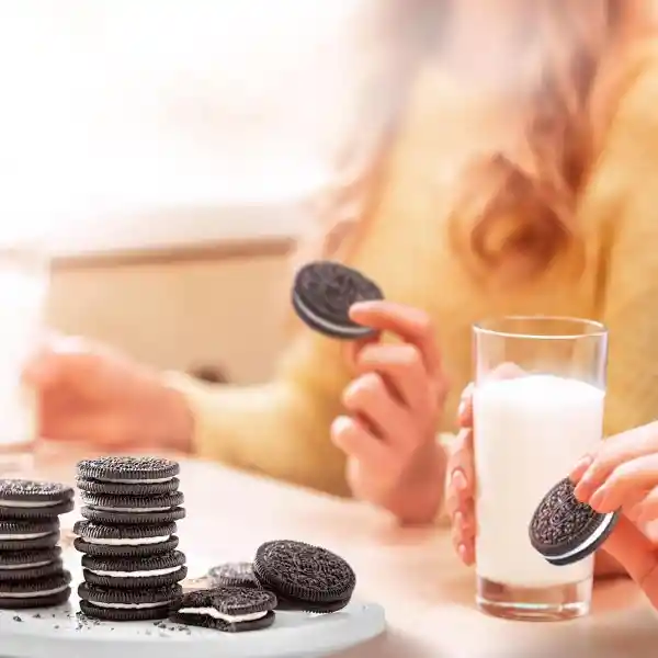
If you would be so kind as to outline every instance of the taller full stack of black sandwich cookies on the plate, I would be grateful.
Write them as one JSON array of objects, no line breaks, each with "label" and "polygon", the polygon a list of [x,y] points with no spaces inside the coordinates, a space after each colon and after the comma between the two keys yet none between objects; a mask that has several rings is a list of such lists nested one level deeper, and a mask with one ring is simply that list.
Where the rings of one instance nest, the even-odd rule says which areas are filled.
[{"label": "taller full stack of black sandwich cookies on the plate", "polygon": [[78,464],[83,521],[80,610],[113,622],[166,619],[188,575],[177,551],[185,515],[179,464],[156,457],[101,457]]}]

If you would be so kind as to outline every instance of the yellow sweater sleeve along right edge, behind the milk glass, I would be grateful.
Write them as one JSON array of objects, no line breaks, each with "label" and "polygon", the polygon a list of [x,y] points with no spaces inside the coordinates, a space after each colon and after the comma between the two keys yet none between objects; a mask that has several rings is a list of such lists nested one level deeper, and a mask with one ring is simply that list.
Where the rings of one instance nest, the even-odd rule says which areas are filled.
[{"label": "yellow sweater sleeve along right edge, behind the milk glass", "polygon": [[658,67],[620,105],[606,160],[605,433],[614,434],[658,418]]}]

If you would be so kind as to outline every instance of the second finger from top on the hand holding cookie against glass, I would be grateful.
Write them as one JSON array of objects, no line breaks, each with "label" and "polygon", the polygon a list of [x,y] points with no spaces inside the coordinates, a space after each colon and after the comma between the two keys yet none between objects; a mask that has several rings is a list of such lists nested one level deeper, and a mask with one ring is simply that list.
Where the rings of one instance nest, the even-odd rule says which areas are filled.
[{"label": "second finger from top on the hand holding cookie against glass", "polygon": [[[589,504],[601,513],[613,512],[636,504],[639,496],[644,497],[656,487],[658,487],[658,453],[624,462],[613,468],[603,484],[592,494]],[[647,511],[650,513],[651,510]],[[658,512],[658,508],[654,511]]]}]

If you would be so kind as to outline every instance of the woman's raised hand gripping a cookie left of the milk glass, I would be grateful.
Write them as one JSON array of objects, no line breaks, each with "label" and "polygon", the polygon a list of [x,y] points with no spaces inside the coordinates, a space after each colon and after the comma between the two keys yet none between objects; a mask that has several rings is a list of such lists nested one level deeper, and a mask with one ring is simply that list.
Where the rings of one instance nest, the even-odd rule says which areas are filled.
[{"label": "woman's raised hand gripping a cookie left of the milk glass", "polygon": [[[447,392],[433,329],[421,310],[392,302],[355,304],[350,317],[376,330],[350,345],[355,378],[331,428],[352,491],[404,522],[430,522],[443,494],[435,431]],[[401,342],[379,342],[383,331]]]}]

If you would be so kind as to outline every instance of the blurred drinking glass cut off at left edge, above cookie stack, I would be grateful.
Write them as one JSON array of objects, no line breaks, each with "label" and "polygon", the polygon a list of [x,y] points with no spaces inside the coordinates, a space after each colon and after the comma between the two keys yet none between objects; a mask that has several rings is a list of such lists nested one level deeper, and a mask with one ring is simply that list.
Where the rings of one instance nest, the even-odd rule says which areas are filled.
[{"label": "blurred drinking glass cut off at left edge, above cookie stack", "polygon": [[0,477],[33,467],[36,397],[22,373],[42,337],[48,270],[39,245],[0,245]]}]

